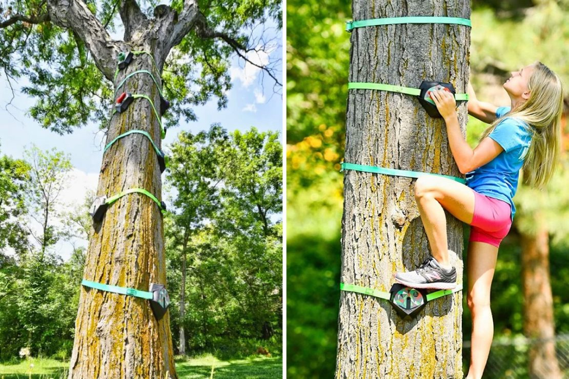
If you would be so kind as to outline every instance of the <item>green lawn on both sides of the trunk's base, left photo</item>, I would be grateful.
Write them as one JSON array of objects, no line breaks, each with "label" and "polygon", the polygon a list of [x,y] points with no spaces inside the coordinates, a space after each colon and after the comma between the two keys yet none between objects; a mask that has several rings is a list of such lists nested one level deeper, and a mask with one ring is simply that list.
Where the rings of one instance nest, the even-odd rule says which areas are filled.
[{"label": "green lawn on both sides of the trunk's base, left photo", "polygon": [[[31,367],[31,365],[34,365]],[[197,358],[176,358],[180,379],[210,378],[273,379],[282,377],[282,357],[251,357],[221,361],[212,355]],[[68,363],[55,359],[29,359],[17,364],[0,363],[0,379],[64,379]]]}]

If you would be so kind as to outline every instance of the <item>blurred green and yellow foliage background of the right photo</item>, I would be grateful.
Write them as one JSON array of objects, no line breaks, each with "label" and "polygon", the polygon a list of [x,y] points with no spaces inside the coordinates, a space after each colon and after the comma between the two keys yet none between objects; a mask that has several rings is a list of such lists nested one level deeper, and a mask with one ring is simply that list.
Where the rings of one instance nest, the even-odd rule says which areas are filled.
[{"label": "blurred green and yellow foliage background of the right photo", "polygon": [[[350,50],[344,21],[349,19],[349,2],[287,2],[287,373],[295,378],[332,377],[335,369],[343,208],[339,169],[344,153]],[[567,98],[569,2],[473,1],[471,19],[471,82],[479,99],[509,105],[501,84],[510,71],[536,60],[562,77]],[[303,25],[303,32],[296,32],[298,25]],[[523,338],[522,236],[544,228],[549,237],[555,332],[569,332],[569,294],[564,290],[569,274],[566,124],[565,152],[555,180],[542,193],[521,186],[514,198],[518,213],[501,244],[492,286],[497,343]],[[485,127],[469,118],[467,140],[471,147],[476,146]],[[465,227],[465,241],[468,233]],[[471,318],[465,297],[463,301],[463,337],[468,341]],[[560,356],[560,363],[569,360],[565,344],[560,351],[566,355]],[[465,347],[467,361],[468,343]],[[526,350],[517,349],[501,354],[503,360],[515,361],[519,372],[496,367],[496,377],[527,377],[526,354],[519,354]],[[494,347],[490,359],[499,353],[500,348]],[[511,359],[512,353],[517,359]]]}]

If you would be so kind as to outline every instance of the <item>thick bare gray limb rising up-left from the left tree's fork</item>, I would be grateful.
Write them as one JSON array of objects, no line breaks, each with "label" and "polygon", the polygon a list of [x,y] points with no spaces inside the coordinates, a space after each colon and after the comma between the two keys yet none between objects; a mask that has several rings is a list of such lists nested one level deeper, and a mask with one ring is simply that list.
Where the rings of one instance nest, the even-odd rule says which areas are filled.
[{"label": "thick bare gray limb rising up-left from the left tree's fork", "polygon": [[83,40],[91,52],[97,68],[112,81],[116,68],[116,56],[121,51],[101,22],[81,0],[50,0],[47,10],[57,26],[70,28]]}]

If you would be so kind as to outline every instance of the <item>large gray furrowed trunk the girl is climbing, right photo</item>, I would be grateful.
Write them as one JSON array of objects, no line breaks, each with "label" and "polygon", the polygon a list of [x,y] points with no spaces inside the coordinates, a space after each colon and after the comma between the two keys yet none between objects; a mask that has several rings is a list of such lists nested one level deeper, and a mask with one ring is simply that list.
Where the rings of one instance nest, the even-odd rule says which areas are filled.
[{"label": "large gray furrowed trunk the girl is climbing, right photo", "polygon": [[[434,3],[434,4],[432,4]],[[469,18],[469,2],[353,0],[353,19],[396,16]],[[349,81],[419,88],[423,80],[468,83],[470,28],[401,24],[356,28]],[[467,105],[459,102],[465,134]],[[460,176],[442,119],[430,118],[417,98],[350,90],[345,161]],[[414,180],[347,170],[344,178],[341,282],[389,291],[397,271],[414,270],[430,256],[414,199]],[[449,249],[461,257],[462,224],[447,213]],[[458,282],[460,259],[451,257]],[[401,319],[383,299],[340,295],[336,378],[462,378],[462,294],[427,303]]]}]

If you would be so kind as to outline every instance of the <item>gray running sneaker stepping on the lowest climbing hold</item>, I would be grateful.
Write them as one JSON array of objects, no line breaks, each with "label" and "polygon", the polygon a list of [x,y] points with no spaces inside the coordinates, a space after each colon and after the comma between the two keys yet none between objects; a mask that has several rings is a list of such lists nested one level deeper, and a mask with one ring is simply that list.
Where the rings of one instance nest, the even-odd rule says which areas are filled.
[{"label": "gray running sneaker stepping on the lowest climbing hold", "polygon": [[443,269],[433,257],[426,259],[417,270],[398,272],[395,281],[411,288],[453,289],[456,287],[456,269]]}]

